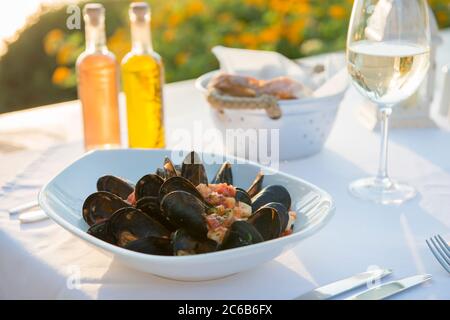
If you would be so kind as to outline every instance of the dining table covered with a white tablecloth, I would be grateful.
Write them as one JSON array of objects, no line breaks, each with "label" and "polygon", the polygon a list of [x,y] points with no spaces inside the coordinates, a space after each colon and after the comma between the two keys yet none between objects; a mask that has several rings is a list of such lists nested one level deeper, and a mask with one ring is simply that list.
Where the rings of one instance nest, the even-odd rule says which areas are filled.
[{"label": "dining table covered with a white tablecloth", "polygon": [[[450,63],[450,30],[441,35],[437,70]],[[438,79],[436,96],[441,86]],[[280,171],[332,196],[335,210],[329,222],[268,263],[198,282],[136,271],[50,219],[21,223],[17,214],[10,214],[10,208],[36,200],[47,181],[84,154],[82,113],[76,100],[0,115],[0,298],[293,299],[318,286],[382,267],[392,269],[382,282],[432,275],[431,281],[391,299],[450,299],[450,275],[425,242],[435,234],[450,241],[450,119],[438,116],[437,102],[433,102],[434,126],[391,130],[390,173],[414,185],[418,196],[402,205],[378,205],[358,200],[348,191],[351,181],[376,172],[378,163],[380,133],[360,121],[358,111],[364,103],[349,87],[323,150],[279,164]],[[174,132],[180,129],[214,128],[209,106],[194,80],[165,85],[164,104],[166,148],[198,149],[206,143],[222,143],[200,139],[183,140],[180,145],[175,138]],[[120,110],[123,118],[123,97]],[[295,144],[292,141],[293,148]]]}]

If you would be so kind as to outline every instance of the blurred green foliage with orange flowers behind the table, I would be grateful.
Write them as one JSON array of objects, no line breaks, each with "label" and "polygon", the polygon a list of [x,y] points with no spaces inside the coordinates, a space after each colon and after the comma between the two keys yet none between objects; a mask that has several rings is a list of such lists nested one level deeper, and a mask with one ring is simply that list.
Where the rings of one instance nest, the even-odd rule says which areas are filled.
[{"label": "blurred green foliage with orange flowers behind the table", "polygon": [[[130,49],[129,0],[100,0],[108,47]],[[150,0],[154,49],[166,82],[217,68],[211,48],[276,50],[291,58],[344,49],[353,0]],[[450,0],[429,0],[440,28]],[[83,2],[80,2],[80,6]],[[0,57],[0,113],[76,99],[75,61],[84,29],[68,30],[65,6],[41,7]]]}]

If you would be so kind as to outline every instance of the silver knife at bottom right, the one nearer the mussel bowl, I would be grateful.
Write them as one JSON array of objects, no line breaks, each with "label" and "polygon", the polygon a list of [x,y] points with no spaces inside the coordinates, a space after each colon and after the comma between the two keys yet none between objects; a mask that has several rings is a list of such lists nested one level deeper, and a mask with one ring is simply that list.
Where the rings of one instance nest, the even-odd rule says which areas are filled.
[{"label": "silver knife at bottom right, the one nearer the mussel bowl", "polygon": [[305,294],[302,294],[295,298],[295,300],[326,300],[330,299],[338,294],[347,292],[364,284],[367,284],[370,281],[374,281],[376,279],[381,279],[388,274],[391,274],[392,270],[390,269],[375,269],[366,271],[363,273],[359,273],[352,277],[338,280],[336,282],[327,284],[323,287],[319,287],[312,291],[309,291]]}]

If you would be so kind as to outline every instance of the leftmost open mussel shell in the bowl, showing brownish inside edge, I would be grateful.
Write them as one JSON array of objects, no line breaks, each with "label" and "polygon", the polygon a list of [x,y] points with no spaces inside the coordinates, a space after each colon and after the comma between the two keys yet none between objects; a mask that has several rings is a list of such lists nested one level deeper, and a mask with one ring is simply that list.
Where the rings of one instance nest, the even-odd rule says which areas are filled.
[{"label": "leftmost open mussel shell in the bowl, showing brownish inside edge", "polygon": [[83,219],[88,225],[108,220],[117,210],[130,206],[120,197],[107,191],[91,194],[83,203]]}]

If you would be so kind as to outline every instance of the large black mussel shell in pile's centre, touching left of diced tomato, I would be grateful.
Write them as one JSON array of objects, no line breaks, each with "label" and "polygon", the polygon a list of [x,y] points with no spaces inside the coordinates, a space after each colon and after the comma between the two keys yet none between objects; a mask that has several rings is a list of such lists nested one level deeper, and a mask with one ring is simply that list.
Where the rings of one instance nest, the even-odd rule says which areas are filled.
[{"label": "large black mussel shell in pile's centre, touching left of diced tomato", "polygon": [[161,200],[161,210],[170,222],[200,240],[206,239],[208,232],[203,217],[205,208],[201,200],[186,191],[172,191]]}]

